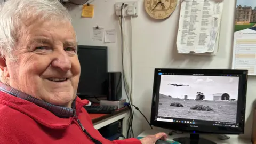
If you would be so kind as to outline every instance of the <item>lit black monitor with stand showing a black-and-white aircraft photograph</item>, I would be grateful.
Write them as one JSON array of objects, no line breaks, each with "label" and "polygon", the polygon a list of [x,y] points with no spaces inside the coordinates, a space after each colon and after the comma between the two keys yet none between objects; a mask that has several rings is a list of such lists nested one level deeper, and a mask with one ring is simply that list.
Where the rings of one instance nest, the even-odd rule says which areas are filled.
[{"label": "lit black monitor with stand showing a black-and-white aircraft photograph", "polygon": [[244,133],[247,70],[155,69],[151,124],[190,133],[182,144],[211,144],[199,134]]}]

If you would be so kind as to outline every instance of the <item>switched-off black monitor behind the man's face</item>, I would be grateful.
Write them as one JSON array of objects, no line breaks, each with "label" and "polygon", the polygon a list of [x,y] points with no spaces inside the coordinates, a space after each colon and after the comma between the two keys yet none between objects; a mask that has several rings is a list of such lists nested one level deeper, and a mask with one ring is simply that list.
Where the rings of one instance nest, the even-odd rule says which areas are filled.
[{"label": "switched-off black monitor behind the man's face", "polygon": [[105,46],[78,45],[81,65],[77,95],[81,99],[106,97],[108,52]]}]

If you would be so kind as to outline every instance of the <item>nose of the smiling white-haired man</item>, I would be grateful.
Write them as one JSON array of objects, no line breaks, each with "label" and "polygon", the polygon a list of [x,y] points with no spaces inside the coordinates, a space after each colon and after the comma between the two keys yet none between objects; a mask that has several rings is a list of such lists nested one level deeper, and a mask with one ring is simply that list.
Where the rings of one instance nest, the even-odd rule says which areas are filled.
[{"label": "nose of the smiling white-haired man", "polygon": [[62,50],[54,54],[55,59],[52,61],[52,67],[59,68],[63,71],[71,69],[71,61],[66,51]]}]

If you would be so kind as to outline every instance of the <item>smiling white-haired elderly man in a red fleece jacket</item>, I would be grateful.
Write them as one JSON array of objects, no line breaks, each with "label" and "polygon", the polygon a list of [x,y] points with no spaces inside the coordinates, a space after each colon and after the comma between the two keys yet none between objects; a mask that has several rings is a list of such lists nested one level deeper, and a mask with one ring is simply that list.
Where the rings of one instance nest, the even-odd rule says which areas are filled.
[{"label": "smiling white-haired elderly man in a red fleece jacket", "polygon": [[9,0],[0,8],[0,143],[155,143],[165,133],[109,141],[94,129],[76,34],[57,0]]}]

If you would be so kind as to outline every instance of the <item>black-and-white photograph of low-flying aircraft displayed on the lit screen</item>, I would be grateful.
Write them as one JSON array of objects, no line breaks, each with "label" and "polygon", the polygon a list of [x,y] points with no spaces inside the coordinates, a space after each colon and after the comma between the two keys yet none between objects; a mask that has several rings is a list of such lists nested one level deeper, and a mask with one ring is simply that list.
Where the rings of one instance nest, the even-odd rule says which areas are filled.
[{"label": "black-and-white photograph of low-flying aircraft displayed on the lit screen", "polygon": [[239,77],[162,75],[158,116],[236,123]]}]

